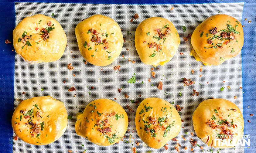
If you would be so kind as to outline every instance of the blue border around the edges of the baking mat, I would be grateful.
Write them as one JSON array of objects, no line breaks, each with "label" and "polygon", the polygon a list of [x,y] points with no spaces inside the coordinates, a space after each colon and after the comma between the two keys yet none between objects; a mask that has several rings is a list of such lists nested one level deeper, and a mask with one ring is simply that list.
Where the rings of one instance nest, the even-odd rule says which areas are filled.
[{"label": "blue border around the edges of the baking mat", "polygon": [[[244,42],[242,49],[242,81],[243,81],[243,115],[244,134],[251,136],[251,147],[245,148],[245,153],[256,152],[256,0],[1,0],[0,8],[0,151],[12,152],[12,127],[14,96],[14,55],[13,46],[5,44],[5,39],[12,42],[12,30],[15,28],[14,2],[59,2],[59,3],[103,3],[103,4],[196,4],[196,3],[237,3],[244,2],[242,25],[244,26]],[[250,19],[248,23],[244,18]],[[248,106],[250,106],[248,108]],[[251,123],[247,122],[250,120]]]}]

